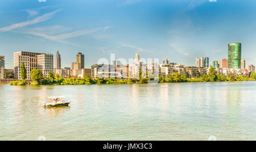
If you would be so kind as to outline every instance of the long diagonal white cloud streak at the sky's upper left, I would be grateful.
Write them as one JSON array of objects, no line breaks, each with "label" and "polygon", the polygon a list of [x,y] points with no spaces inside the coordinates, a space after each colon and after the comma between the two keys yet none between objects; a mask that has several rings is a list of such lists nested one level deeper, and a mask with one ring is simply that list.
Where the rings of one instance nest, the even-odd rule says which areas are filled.
[{"label": "long diagonal white cloud streak at the sky's upper left", "polygon": [[46,21],[48,19],[51,19],[52,16],[54,14],[56,14],[56,12],[58,12],[60,10],[61,9],[55,10],[53,12],[46,13],[46,14],[44,14],[42,16],[38,16],[35,19],[28,20],[26,22],[11,24],[10,26],[0,28],[0,31],[7,32],[7,31],[10,31],[10,30],[15,29],[15,28],[24,27],[24,26],[28,26],[28,25],[31,25],[31,24],[36,24],[36,23],[44,22],[44,21]]}]

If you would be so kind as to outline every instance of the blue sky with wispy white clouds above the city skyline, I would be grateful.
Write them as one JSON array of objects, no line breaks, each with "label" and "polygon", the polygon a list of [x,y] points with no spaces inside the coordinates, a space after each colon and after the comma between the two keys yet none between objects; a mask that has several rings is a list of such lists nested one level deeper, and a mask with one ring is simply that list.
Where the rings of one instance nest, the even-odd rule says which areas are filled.
[{"label": "blue sky with wispy white clouds above the city skyline", "polygon": [[228,44],[237,41],[246,66],[256,65],[254,0],[39,1],[0,1],[0,55],[7,69],[19,50],[59,50],[62,67],[70,67],[78,52],[88,68],[110,53],[195,66],[207,53],[210,62],[228,58]]}]

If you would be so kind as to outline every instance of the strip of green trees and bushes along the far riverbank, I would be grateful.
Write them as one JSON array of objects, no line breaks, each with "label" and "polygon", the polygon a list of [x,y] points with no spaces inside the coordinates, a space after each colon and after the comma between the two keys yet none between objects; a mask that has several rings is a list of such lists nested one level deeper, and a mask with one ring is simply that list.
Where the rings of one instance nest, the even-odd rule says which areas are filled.
[{"label": "strip of green trees and bushes along the far riverbank", "polygon": [[[27,83],[26,78],[26,70],[23,69],[22,81],[13,81],[10,82],[11,86],[39,86],[39,85],[113,85],[113,84],[146,84],[149,81],[154,80],[154,74],[152,73],[141,73],[139,79],[114,79],[114,78],[102,78],[101,76],[98,78],[92,78],[90,75],[85,75],[84,78],[74,77],[64,79],[62,75],[49,73],[49,78],[43,77],[41,71],[39,69],[34,69],[31,71],[31,79],[33,83]],[[159,76],[156,78],[155,82],[158,83],[177,83],[177,82],[227,82],[227,81],[255,81],[256,74],[255,71],[251,72],[250,77],[245,77],[243,75],[234,75],[234,73],[229,73],[228,77],[226,75],[216,74],[214,69],[210,69],[209,74],[196,75],[196,78],[187,78],[185,74],[168,74],[167,77]]]}]

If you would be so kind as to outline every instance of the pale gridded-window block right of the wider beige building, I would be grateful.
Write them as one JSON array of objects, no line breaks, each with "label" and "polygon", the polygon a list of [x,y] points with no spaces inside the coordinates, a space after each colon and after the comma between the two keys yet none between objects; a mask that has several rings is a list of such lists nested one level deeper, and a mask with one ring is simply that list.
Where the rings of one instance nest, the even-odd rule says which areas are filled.
[{"label": "pale gridded-window block right of the wider beige building", "polygon": [[53,72],[53,54],[41,54],[37,56],[37,64],[43,76],[49,78],[49,71]]}]

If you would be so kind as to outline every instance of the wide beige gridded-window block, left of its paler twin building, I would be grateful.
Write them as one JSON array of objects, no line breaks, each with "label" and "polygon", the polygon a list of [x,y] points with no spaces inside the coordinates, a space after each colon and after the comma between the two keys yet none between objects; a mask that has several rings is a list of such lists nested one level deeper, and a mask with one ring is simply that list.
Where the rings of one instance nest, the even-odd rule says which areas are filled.
[{"label": "wide beige gridded-window block, left of its paler twin building", "polygon": [[30,78],[30,73],[33,69],[38,68],[38,56],[46,53],[24,52],[19,51],[14,53],[14,74],[15,78],[22,79],[20,77],[20,65],[24,63],[27,70],[27,79]]}]

